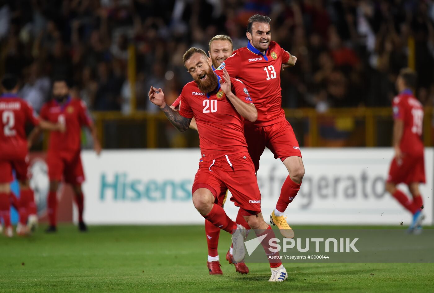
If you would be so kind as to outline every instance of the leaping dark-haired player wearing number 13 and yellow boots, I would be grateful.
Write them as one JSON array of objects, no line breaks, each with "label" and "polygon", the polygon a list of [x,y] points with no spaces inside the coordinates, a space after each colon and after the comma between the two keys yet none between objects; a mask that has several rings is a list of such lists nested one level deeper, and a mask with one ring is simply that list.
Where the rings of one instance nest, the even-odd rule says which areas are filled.
[{"label": "leaping dark-haired player wearing number 13 and yellow boots", "polygon": [[281,106],[280,69],[294,66],[297,59],[271,41],[270,21],[268,16],[251,16],[246,33],[249,40],[247,46],[233,51],[233,55],[216,69],[216,73],[221,76],[223,69],[226,69],[231,77],[247,85],[254,99],[258,119],[255,122],[246,121],[244,135],[255,171],[258,171],[260,156],[267,147],[274,158],[282,160],[289,172],[276,208],[270,215],[270,223],[277,225],[284,237],[292,238],[293,230],[283,212],[300,189],[304,166],[293,128]]}]

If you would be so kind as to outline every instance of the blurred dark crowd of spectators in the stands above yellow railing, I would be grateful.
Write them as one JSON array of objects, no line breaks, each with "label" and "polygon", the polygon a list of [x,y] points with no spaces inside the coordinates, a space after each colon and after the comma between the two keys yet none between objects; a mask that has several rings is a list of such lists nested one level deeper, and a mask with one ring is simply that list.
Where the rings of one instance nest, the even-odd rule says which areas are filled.
[{"label": "blurred dark crowd of spectators in the stands above yellow railing", "polygon": [[62,75],[92,110],[130,112],[133,86],[137,109],[155,112],[150,85],[173,101],[191,81],[183,53],[217,34],[246,46],[255,13],[298,58],[282,74],[283,107],[388,106],[406,66],[433,104],[434,0],[0,0],[0,74],[19,76],[36,110]]}]

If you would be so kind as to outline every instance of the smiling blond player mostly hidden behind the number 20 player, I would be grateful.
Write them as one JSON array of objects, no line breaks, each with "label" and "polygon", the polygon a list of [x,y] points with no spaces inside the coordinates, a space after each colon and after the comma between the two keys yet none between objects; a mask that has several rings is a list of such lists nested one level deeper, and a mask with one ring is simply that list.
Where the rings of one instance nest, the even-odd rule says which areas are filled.
[{"label": "smiling blond player mostly hidden behind the number 20 player", "polygon": [[[211,58],[212,69],[215,70],[220,64],[226,60],[230,55],[232,55],[233,51],[233,43],[230,36],[226,35],[217,35],[214,36],[210,43],[208,44],[208,55]],[[170,106],[170,108],[174,111],[178,111],[180,97],[176,99],[176,101]],[[196,120],[194,117],[191,119],[190,128],[197,130]],[[222,191],[217,198],[217,204],[221,204],[223,207],[224,203],[227,199],[227,190]],[[244,220],[243,216],[238,212],[237,219],[235,221],[237,224],[243,225],[246,229],[250,229],[247,222]],[[208,246],[208,260],[207,267],[210,272],[210,275],[222,275],[223,272],[220,269],[220,258],[218,255],[218,240],[220,236],[220,228],[215,227],[210,221],[205,219],[205,234],[207,237],[207,246]],[[239,263],[234,262],[233,260],[233,247],[231,246],[226,253],[226,260],[235,266],[235,271],[241,274],[249,273],[249,268],[246,266],[244,261]]]}]

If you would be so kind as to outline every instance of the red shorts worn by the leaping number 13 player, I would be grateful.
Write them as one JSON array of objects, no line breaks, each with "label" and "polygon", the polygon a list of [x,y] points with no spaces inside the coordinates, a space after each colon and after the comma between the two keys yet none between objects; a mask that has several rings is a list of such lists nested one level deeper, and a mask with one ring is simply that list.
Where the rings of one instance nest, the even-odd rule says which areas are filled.
[{"label": "red shorts worn by the leaping number 13 player", "polygon": [[293,128],[286,120],[259,127],[252,123],[244,123],[244,135],[256,172],[265,147],[273,152],[275,159],[279,158],[282,161],[288,157],[302,157]]}]

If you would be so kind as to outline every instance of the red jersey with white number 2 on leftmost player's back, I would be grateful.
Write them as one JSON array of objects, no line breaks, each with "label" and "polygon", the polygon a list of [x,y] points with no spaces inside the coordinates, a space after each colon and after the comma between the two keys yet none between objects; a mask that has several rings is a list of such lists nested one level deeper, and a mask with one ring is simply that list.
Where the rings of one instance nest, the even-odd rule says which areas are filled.
[{"label": "red jersey with white number 2 on leftmost player's back", "polygon": [[26,141],[26,124],[38,125],[39,119],[25,100],[17,95],[0,96],[0,141]]}]

